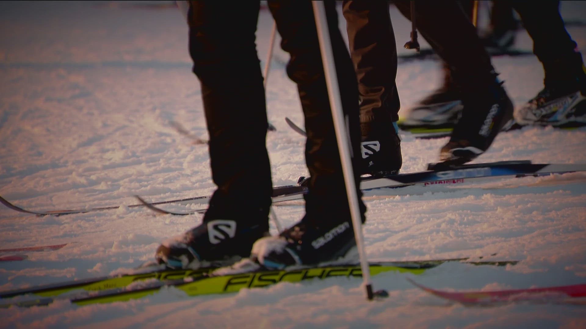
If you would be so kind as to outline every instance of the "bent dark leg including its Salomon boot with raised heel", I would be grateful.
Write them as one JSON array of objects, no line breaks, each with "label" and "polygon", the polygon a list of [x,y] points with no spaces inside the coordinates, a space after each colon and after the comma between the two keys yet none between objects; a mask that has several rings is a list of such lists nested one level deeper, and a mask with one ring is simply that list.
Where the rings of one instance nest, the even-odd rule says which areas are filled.
[{"label": "bent dark leg including its Salomon boot with raised heel", "polygon": [[[395,4],[406,8],[408,1]],[[464,105],[440,159],[468,162],[485,152],[512,118],[512,102],[496,79],[475,27],[456,1],[417,2],[414,15],[421,35],[448,64]]]}]

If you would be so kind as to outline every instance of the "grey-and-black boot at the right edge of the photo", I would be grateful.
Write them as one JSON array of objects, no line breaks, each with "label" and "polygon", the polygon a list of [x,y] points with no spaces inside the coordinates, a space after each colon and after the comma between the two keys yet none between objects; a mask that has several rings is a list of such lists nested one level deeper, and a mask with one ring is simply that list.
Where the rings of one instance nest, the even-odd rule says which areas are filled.
[{"label": "grey-and-black boot at the right edge of the photo", "polygon": [[[581,89],[581,90],[580,90]],[[586,125],[586,82],[543,88],[527,104],[515,109],[520,125],[576,127]]]}]

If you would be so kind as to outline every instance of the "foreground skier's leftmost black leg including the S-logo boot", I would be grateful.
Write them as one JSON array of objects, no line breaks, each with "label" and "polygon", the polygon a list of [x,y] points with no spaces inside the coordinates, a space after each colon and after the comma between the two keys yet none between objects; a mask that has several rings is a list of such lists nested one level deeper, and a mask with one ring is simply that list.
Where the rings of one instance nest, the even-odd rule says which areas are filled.
[{"label": "foreground skier's leftmost black leg including the S-logo boot", "polygon": [[267,114],[255,49],[258,2],[192,1],[189,53],[199,78],[217,185],[203,224],[156,252],[176,268],[225,265],[248,256],[268,232],[271,168]]}]

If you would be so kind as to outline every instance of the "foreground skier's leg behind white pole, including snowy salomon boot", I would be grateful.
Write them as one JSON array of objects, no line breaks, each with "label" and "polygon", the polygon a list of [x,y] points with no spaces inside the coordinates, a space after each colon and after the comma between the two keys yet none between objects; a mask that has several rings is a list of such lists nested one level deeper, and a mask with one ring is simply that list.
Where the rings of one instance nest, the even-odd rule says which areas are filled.
[{"label": "foreground skier's leg behind white pole, including snowy salomon boot", "polygon": [[[308,1],[269,1],[282,37],[282,49],[291,55],[287,73],[297,83],[305,115],[305,157],[311,178],[305,196],[305,217],[280,237],[257,241],[253,257],[270,268],[330,261],[355,246],[342,164],[333,127],[314,12]],[[358,87],[352,61],[338,29],[335,2],[326,2],[342,107],[354,150],[356,193],[360,197]],[[364,220],[365,207],[359,202]]]}]

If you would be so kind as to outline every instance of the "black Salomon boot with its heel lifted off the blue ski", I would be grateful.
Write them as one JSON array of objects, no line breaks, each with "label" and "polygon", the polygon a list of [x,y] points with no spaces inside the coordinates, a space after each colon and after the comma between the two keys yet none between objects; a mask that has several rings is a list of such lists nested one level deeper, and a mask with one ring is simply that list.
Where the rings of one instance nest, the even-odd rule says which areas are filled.
[{"label": "black Salomon boot with its heel lifted off the blue ski", "polygon": [[513,121],[513,103],[502,83],[493,85],[486,95],[462,101],[462,117],[449,142],[441,148],[440,161],[462,165],[484,153],[496,135]]}]

